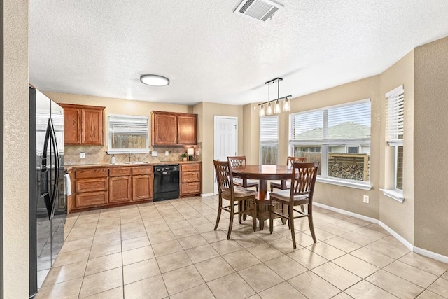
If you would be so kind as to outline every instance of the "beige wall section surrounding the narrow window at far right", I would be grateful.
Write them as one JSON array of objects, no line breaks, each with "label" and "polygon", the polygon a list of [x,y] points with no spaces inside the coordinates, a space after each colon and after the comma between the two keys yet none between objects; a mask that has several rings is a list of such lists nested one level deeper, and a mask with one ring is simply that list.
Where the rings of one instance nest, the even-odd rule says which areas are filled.
[{"label": "beige wall section surrounding the narrow window at far right", "polygon": [[405,132],[403,141],[403,195],[404,202],[398,202],[379,193],[379,220],[389,228],[414,242],[414,50],[402,57],[380,76],[379,99],[381,104],[380,130],[380,188],[392,188],[393,149],[386,144],[386,92],[403,85],[405,88]]}]

